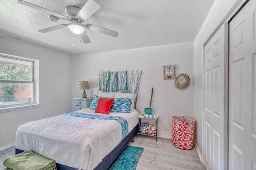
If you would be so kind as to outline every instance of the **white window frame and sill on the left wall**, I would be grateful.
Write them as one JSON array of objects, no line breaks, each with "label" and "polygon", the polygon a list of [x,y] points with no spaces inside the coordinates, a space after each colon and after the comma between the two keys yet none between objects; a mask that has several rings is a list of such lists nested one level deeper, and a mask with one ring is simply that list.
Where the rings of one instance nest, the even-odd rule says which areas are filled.
[{"label": "white window frame and sill on the left wall", "polygon": [[[32,63],[32,80],[31,81],[0,80],[0,83],[31,83],[33,86],[32,87],[33,99],[31,102],[0,106],[0,113],[39,107],[40,106],[39,104],[39,69],[38,69],[39,61],[35,59],[8,55],[4,53],[0,53],[0,57],[20,60],[20,61],[27,61]],[[9,63],[12,63],[12,62],[9,62]]]}]

